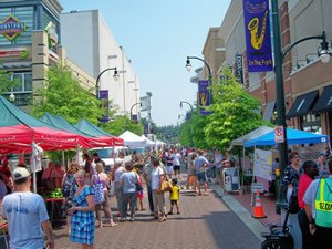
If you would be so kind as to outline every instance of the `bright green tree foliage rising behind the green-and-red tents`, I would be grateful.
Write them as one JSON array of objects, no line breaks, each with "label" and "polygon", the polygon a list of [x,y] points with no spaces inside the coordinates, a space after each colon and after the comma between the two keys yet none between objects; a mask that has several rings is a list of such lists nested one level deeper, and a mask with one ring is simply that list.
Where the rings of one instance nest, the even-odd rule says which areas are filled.
[{"label": "bright green tree foliage rising behind the green-and-red tents", "polygon": [[95,96],[80,85],[71,71],[61,66],[52,66],[48,76],[48,85],[40,89],[39,97],[34,100],[32,108],[34,116],[40,117],[49,112],[63,116],[72,124],[82,118],[94,124],[98,123],[105,110],[101,108],[101,102]]}]

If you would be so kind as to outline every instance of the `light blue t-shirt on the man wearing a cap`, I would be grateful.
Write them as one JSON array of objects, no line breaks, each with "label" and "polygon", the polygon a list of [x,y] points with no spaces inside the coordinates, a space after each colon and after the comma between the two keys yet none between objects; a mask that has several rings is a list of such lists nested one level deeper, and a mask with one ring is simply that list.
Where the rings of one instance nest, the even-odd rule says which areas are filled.
[{"label": "light blue t-shirt on the man wearing a cap", "polygon": [[41,222],[49,219],[44,199],[31,191],[4,196],[2,215],[8,219],[11,249],[42,249]]}]

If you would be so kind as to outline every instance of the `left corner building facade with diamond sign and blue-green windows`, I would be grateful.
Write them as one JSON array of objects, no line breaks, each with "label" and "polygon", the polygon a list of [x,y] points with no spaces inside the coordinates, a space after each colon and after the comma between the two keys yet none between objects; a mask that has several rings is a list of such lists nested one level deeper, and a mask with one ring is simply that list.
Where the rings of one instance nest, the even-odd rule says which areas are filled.
[{"label": "left corner building facade with diamond sign and blue-green windows", "polygon": [[71,69],[85,89],[93,86],[95,80],[69,60],[60,45],[61,11],[56,0],[1,1],[0,69],[12,72],[20,82],[7,93],[14,94],[18,106],[29,106],[45,84],[49,66],[59,62]]}]

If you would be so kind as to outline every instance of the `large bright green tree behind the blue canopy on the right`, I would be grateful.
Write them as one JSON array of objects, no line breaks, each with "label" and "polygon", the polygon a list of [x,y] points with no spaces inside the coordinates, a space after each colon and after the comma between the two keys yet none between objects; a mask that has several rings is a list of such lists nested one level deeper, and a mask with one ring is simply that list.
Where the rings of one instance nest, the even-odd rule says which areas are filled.
[{"label": "large bright green tree behind the blue canopy on the right", "polygon": [[207,116],[204,128],[206,143],[224,149],[230,142],[263,124],[260,102],[252,97],[237,82],[229,69],[225,70],[225,82],[214,84],[214,103],[208,107],[211,114]]}]

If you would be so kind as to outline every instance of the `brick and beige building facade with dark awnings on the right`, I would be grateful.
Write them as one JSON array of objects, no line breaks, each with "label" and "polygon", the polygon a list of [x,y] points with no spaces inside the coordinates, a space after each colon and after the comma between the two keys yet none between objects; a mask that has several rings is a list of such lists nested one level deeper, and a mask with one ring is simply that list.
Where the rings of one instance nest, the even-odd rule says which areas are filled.
[{"label": "brick and beige building facade with dark awnings on the right", "polygon": [[[322,31],[326,32],[331,44],[331,9],[330,0],[280,0],[283,50],[300,39],[321,35]],[[273,122],[274,72],[248,72],[242,1],[231,1],[219,37],[225,41],[226,51],[221,68],[230,66],[236,73],[241,71],[243,86],[261,101],[263,117]],[[298,44],[283,61],[287,124],[289,127],[328,134],[332,138],[332,60],[322,63],[318,56],[321,41]]]}]

